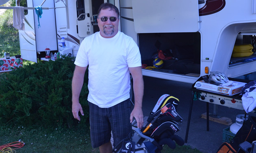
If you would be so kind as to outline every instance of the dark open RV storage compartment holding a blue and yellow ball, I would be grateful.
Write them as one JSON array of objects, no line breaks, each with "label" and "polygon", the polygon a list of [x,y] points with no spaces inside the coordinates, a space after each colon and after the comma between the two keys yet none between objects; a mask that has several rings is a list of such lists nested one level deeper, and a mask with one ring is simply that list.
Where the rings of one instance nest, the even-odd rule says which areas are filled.
[{"label": "dark open RV storage compartment holding a blue and yellow ball", "polygon": [[138,34],[142,64],[153,66],[158,51],[171,56],[163,68],[152,70],[200,76],[201,35],[199,32]]}]

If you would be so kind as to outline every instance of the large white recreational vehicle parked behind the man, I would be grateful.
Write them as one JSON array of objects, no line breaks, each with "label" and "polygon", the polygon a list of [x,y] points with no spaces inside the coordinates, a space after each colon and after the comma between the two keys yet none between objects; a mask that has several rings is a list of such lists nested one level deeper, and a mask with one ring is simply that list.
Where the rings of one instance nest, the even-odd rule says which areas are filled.
[{"label": "large white recreational vehicle parked behind the man", "polygon": [[[103,2],[119,8],[119,30],[139,46],[145,76],[194,83],[210,71],[228,77],[256,71],[256,0],[46,0],[42,8],[49,9],[41,18],[32,9],[24,11],[22,58],[37,62],[46,48],[59,52],[62,37],[76,56],[81,41],[99,31],[97,11]],[[37,7],[42,2],[16,3]],[[159,54],[163,67],[154,68]]]}]

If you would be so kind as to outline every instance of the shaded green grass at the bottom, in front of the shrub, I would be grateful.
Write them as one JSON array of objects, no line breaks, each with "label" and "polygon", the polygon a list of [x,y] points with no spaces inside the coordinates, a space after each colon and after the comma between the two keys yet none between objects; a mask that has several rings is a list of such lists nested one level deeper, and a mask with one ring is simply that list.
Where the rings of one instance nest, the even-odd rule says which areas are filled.
[{"label": "shaded green grass at the bottom, in front of the shrub", "polygon": [[[89,128],[43,129],[41,127],[0,127],[0,145],[23,141],[24,147],[15,149],[17,153],[99,153],[90,142]],[[162,153],[201,153],[189,146],[169,149],[164,146]]]}]

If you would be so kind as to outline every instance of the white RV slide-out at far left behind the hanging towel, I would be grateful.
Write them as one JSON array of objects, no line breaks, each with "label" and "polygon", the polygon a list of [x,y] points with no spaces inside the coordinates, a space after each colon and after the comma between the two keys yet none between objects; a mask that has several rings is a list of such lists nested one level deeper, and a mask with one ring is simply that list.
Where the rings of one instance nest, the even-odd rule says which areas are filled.
[{"label": "white RV slide-out at far left behind the hanging towel", "polygon": [[[22,5],[24,7],[36,7],[41,4],[39,0],[22,0],[19,2],[17,6]],[[54,2],[46,0],[43,6],[54,8]],[[21,55],[24,60],[37,62],[37,53],[44,54],[46,48],[50,48],[52,51],[57,50],[54,9],[43,10],[41,18],[37,17],[35,11],[31,9],[24,10],[24,15],[25,30],[19,30]]]}]

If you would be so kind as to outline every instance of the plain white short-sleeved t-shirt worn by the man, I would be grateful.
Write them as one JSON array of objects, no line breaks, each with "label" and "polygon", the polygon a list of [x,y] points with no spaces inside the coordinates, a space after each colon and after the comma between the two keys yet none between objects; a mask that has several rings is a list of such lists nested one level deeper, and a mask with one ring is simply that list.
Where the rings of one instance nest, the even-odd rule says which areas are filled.
[{"label": "plain white short-sleeved t-shirt worn by the man", "polygon": [[128,68],[141,66],[141,55],[135,41],[123,32],[112,38],[96,32],[82,41],[75,64],[89,65],[87,100],[108,108],[130,98]]}]

